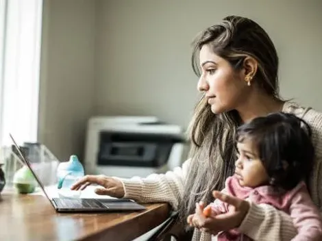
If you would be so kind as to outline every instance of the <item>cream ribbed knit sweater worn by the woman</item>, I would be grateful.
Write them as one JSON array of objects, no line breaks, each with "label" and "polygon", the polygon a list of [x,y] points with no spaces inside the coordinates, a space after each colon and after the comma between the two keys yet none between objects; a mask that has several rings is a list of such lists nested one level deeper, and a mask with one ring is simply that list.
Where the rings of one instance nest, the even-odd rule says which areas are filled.
[{"label": "cream ribbed knit sweater worn by the woman", "polygon": [[[315,205],[322,211],[322,114],[310,107],[301,107],[297,103],[286,101],[282,112],[295,114],[310,125],[312,142],[315,148],[313,172],[308,188]],[[125,190],[125,198],[141,203],[167,202],[177,210],[180,197],[183,196],[184,184],[190,160],[173,171],[164,174],[151,174],[148,177],[120,179]],[[249,212],[238,227],[240,233],[260,241],[292,240],[297,235],[292,218],[283,211],[267,204],[250,202]],[[210,233],[195,229],[193,241],[210,241]]]}]

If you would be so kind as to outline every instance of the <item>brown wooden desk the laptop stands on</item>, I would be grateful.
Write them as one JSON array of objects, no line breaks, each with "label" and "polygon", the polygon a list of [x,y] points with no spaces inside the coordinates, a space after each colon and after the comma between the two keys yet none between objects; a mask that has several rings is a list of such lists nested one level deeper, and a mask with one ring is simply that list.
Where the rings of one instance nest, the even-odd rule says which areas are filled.
[{"label": "brown wooden desk the laptop stands on", "polygon": [[133,240],[160,225],[169,205],[140,212],[59,214],[45,196],[1,194],[0,240]]}]

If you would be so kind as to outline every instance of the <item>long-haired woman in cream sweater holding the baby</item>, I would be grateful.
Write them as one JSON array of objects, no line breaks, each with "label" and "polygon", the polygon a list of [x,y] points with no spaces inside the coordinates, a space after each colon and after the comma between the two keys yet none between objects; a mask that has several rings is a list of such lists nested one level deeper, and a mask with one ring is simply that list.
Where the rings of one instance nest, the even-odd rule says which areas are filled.
[{"label": "long-haired woman in cream sweater holding the baby", "polygon": [[[264,29],[248,18],[227,16],[196,38],[192,59],[203,97],[190,125],[190,159],[182,168],[146,178],[86,176],[73,189],[97,183],[101,186],[97,194],[168,202],[186,220],[195,212],[195,203],[213,201],[212,190],[221,190],[234,173],[236,128],[256,116],[282,111],[304,118],[312,128],[316,156],[308,185],[314,203],[321,207],[322,114],[280,99],[277,53]],[[253,240],[290,240],[296,234],[290,216],[269,205],[224,194],[216,198],[235,208],[206,224],[212,231],[238,227]],[[279,223],[280,228],[271,228],[271,223]],[[210,240],[210,233],[195,229],[193,240]]]}]

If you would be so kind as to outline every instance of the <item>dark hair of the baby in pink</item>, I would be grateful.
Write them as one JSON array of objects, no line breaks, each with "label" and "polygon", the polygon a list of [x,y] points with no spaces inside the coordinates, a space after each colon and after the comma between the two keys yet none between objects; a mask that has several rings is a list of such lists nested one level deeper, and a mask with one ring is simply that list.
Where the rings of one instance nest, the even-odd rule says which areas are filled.
[{"label": "dark hair of the baby in pink", "polygon": [[311,136],[308,123],[282,112],[254,118],[237,130],[238,142],[250,138],[256,144],[271,186],[282,190],[308,180],[314,161]]}]

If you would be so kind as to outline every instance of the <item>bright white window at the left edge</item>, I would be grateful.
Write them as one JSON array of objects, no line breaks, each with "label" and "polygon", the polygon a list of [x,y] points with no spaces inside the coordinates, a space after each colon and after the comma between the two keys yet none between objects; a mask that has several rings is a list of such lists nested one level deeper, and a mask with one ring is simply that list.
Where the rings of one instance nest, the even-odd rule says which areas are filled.
[{"label": "bright white window at the left edge", "polygon": [[0,145],[38,132],[42,0],[0,0]]}]

